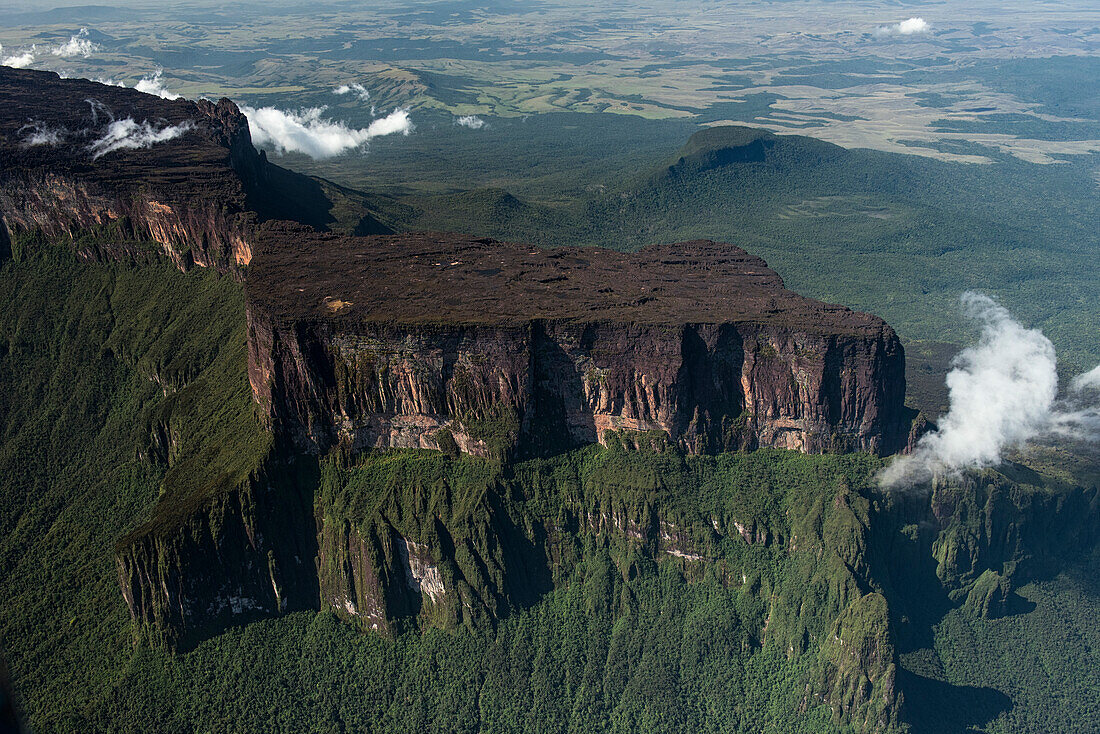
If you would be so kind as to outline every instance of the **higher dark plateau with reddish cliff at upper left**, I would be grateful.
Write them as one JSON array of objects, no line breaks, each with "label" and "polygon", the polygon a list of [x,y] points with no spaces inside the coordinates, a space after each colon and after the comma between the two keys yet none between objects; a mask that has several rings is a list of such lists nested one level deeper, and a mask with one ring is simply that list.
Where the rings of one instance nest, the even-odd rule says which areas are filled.
[{"label": "higher dark plateau with reddish cliff at upper left", "polygon": [[[112,123],[178,130],[102,153]],[[120,130],[116,131],[121,133]],[[246,190],[263,174],[233,102],[166,100],[48,72],[0,69],[0,229],[75,241],[90,260],[142,259],[239,273],[252,259]],[[3,249],[0,243],[0,250]],[[0,252],[0,256],[3,253]]]}]

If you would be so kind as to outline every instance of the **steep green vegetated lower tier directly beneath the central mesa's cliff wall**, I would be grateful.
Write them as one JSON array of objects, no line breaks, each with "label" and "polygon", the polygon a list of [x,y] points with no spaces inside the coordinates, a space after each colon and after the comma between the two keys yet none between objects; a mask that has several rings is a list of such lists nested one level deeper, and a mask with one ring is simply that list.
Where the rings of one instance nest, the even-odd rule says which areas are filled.
[{"label": "steep green vegetated lower tier directly beneath the central mesa's cliff wall", "polygon": [[[322,604],[364,629],[484,628],[580,584],[618,620],[648,605],[647,579],[675,578],[725,600],[741,656],[805,671],[788,681],[788,705],[825,703],[838,723],[886,730],[894,653],[859,558],[873,465],[866,454],[683,457],[622,442],[506,468],[426,451],[329,465]],[[387,598],[395,573],[399,599]],[[849,659],[843,646],[856,640],[864,655]]]}]

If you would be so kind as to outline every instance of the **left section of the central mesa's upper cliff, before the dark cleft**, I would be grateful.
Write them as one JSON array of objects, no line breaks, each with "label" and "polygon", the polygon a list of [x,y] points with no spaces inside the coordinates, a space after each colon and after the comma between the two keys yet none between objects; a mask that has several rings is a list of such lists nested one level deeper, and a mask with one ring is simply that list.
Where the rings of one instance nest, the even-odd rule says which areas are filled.
[{"label": "left section of the central mesa's upper cliff, before the dark cleft", "polygon": [[283,326],[250,309],[249,380],[270,424],[300,450],[438,449],[453,440],[487,456],[494,437],[484,424],[498,412],[521,415],[530,399],[530,342],[527,328],[339,330]]}]

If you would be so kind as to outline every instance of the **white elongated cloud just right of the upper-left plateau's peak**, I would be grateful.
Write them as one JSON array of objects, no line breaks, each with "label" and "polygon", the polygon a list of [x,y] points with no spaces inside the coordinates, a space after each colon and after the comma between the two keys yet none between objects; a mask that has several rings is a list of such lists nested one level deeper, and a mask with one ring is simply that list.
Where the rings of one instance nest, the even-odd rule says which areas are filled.
[{"label": "white elongated cloud just right of the upper-left plateau's peak", "polygon": [[328,158],[364,145],[372,138],[394,133],[409,134],[413,122],[408,110],[397,109],[374,120],[365,129],[349,128],[340,121],[321,117],[323,107],[287,112],[273,107],[255,109],[242,106],[249,118],[252,141],[276,153],[305,153],[312,158]]}]

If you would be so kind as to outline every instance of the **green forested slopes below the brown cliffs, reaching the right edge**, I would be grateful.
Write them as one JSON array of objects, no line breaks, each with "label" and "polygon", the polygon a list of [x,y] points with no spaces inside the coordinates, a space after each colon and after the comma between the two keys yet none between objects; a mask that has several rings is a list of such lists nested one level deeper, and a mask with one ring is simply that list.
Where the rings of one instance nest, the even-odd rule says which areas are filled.
[{"label": "green forested slopes below the brown cliffs, reaching the right edge", "polygon": [[[941,486],[930,515],[925,495],[880,494],[862,454],[327,457],[319,518],[384,521],[429,548],[446,526],[483,552],[441,572],[480,599],[499,577],[474,559],[504,552],[490,530],[553,530],[543,562],[508,579],[526,593],[499,620],[440,606],[393,637],[296,612],[151,646],[116,540],[162,492],[231,490],[270,448],[240,285],[19,251],[0,267],[0,645],[35,731],[1100,725],[1094,563],[1053,576],[1091,547],[1097,493],[1021,467]],[[631,538],[631,523],[658,529]],[[1037,579],[1018,590],[1034,606],[979,616],[1013,572]]]}]

